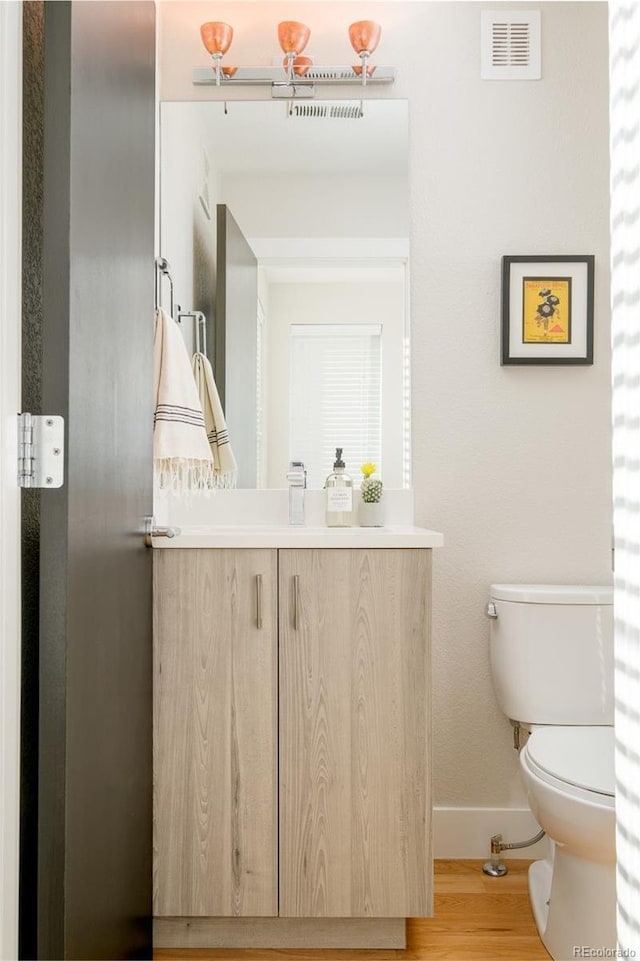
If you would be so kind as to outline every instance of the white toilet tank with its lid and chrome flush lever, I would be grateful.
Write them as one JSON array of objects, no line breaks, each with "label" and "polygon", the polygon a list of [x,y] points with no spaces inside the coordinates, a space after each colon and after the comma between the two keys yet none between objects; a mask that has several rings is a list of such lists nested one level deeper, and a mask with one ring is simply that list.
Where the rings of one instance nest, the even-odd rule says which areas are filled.
[{"label": "white toilet tank with its lid and chrome flush lever", "polygon": [[613,588],[492,584],[490,601],[491,672],[507,717],[613,724]]}]

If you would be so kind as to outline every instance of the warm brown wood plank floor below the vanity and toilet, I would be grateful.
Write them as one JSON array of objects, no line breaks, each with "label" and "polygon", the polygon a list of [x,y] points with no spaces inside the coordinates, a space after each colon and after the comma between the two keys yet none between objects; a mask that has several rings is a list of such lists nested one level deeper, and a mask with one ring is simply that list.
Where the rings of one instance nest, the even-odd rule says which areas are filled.
[{"label": "warm brown wood plank floor below the vanity and toilet", "polygon": [[158,948],[156,961],[548,961],[529,906],[529,861],[504,878],[482,861],[435,862],[435,915],[409,921],[406,951],[204,950]]}]

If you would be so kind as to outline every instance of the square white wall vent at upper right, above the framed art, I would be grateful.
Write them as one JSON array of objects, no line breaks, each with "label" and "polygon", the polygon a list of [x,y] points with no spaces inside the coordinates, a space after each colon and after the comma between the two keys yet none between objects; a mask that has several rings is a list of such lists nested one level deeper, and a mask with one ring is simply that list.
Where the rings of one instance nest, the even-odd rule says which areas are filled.
[{"label": "square white wall vent at upper right, above the framed art", "polygon": [[481,78],[540,80],[540,11],[483,10],[481,18]]}]

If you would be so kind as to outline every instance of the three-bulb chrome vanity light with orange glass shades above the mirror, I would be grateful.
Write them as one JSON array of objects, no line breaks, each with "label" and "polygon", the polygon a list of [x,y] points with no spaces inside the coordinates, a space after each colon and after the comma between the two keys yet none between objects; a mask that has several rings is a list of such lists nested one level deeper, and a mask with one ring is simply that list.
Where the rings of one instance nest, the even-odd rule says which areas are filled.
[{"label": "three-bulb chrome vanity light with orange glass shades above the mirror", "polygon": [[217,87],[242,86],[245,84],[269,84],[271,96],[313,97],[315,86],[329,84],[367,83],[389,84],[396,76],[395,67],[371,66],[369,59],[376,50],[382,33],[380,24],[373,20],[359,20],[349,27],[351,46],[360,58],[360,63],[347,66],[315,66],[310,57],[301,56],[306,48],[311,31],[304,23],[284,20],[278,24],[278,43],[284,53],[282,66],[273,67],[223,67],[222,58],[231,45],[233,28],[228,23],[212,21],[203,23],[200,35],[207,51],[214,61],[213,73],[210,69],[197,67],[193,71],[193,83],[197,86]]}]

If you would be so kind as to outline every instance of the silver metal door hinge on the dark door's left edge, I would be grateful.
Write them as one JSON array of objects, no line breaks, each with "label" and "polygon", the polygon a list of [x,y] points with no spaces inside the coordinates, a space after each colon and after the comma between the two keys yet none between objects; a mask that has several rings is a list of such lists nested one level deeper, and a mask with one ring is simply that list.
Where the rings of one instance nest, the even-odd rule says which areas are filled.
[{"label": "silver metal door hinge on the dark door's left edge", "polygon": [[64,418],[18,414],[18,486],[62,487]]}]

